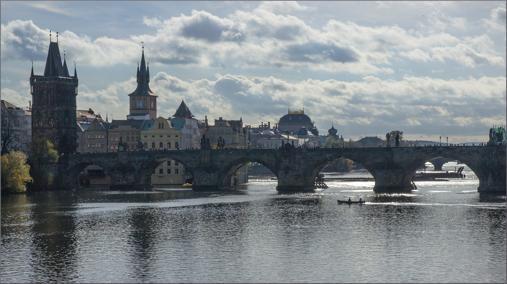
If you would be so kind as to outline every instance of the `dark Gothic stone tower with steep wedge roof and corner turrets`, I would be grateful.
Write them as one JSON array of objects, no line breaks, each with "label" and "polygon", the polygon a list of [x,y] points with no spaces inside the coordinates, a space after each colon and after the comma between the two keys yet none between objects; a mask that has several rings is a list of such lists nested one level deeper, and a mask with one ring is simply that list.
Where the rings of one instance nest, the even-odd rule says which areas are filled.
[{"label": "dark Gothic stone tower with steep wedge roof and corner turrets", "polygon": [[58,37],[56,43],[50,40],[44,75],[34,75],[32,64],[30,93],[32,141],[48,140],[59,154],[76,152],[78,75],[76,66],[74,76],[70,76],[65,59],[62,64]]}]

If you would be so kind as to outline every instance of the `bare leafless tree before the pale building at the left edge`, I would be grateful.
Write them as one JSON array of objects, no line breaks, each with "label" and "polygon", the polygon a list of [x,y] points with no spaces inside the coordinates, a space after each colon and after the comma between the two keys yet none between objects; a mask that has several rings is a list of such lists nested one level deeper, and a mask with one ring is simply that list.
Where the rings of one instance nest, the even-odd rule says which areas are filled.
[{"label": "bare leafless tree before the pale building at the left edge", "polygon": [[25,148],[29,142],[25,130],[27,123],[26,118],[16,115],[15,111],[2,105],[2,155]]}]

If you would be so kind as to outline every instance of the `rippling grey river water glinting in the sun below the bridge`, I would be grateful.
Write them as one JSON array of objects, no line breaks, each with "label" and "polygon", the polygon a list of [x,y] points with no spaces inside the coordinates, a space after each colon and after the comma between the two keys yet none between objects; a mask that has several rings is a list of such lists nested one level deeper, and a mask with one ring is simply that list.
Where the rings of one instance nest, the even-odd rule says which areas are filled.
[{"label": "rippling grey river water glinting in the sun below the bridge", "polygon": [[3,196],[2,281],[505,282],[505,196],[463,173],[410,194],[354,181],[279,194],[267,176],[227,192]]}]

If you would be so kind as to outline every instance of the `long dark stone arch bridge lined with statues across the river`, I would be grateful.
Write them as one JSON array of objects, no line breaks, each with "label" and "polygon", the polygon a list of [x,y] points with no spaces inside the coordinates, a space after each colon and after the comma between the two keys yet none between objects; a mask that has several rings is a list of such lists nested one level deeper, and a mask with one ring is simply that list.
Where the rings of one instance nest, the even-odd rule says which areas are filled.
[{"label": "long dark stone arch bridge lined with statues across the river", "polygon": [[126,151],[74,154],[60,159],[62,186],[75,187],[81,171],[97,165],[111,177],[112,188],[150,188],[151,175],[163,161],[185,165],[195,190],[231,188],[241,166],[257,162],[278,178],[279,191],[315,189],[320,170],[338,158],[363,165],[375,178],[375,191],[411,189],[412,176],[427,161],[462,161],[479,178],[478,191],[505,192],[505,146],[427,146]]}]

